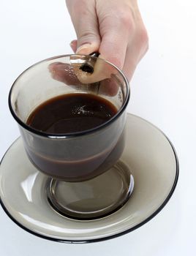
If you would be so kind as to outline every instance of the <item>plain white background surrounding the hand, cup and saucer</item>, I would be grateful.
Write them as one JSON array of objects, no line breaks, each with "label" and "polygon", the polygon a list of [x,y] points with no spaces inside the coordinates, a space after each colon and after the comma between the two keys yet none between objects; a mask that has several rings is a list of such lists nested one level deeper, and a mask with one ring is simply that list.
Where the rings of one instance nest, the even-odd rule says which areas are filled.
[{"label": "plain white background surrounding the hand, cup and saucer", "polygon": [[[196,1],[140,0],[139,5],[150,48],[132,79],[128,111],[162,129],[176,147],[180,178],[173,197],[143,227],[94,244],[38,238],[0,208],[1,255],[195,255]],[[1,0],[0,158],[19,136],[7,105],[13,81],[39,60],[72,53],[72,39],[75,31],[64,0]]]}]

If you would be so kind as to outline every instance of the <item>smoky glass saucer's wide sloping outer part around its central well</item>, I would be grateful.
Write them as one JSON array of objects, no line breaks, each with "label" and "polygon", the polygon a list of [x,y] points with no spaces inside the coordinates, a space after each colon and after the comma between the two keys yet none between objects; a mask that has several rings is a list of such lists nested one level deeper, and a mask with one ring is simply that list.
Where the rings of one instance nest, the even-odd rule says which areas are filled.
[{"label": "smoky glass saucer's wide sloping outer part around its central well", "polygon": [[48,176],[31,165],[18,138],[1,160],[1,206],[24,230],[52,241],[86,243],[121,236],[162,210],[173,194],[179,171],[170,140],[153,124],[131,114],[127,115],[121,162],[129,167],[135,181],[127,203],[100,219],[69,219],[50,207],[45,192]]}]

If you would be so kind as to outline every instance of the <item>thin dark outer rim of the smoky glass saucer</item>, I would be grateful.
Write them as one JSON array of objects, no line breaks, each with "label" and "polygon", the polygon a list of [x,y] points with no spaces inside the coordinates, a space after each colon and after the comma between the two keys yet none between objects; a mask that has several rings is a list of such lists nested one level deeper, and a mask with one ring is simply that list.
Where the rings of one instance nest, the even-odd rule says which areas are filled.
[{"label": "thin dark outer rim of the smoky glass saucer", "polygon": [[[65,244],[88,244],[88,243],[94,243],[94,242],[99,242],[99,241],[107,241],[109,239],[112,239],[112,238],[117,238],[118,236],[123,236],[127,233],[130,233],[134,230],[136,230],[137,228],[139,227],[142,227],[143,225],[145,225],[147,222],[149,222],[151,219],[153,219],[157,214],[159,214],[160,211],[162,211],[162,208],[164,208],[167,203],[169,202],[170,198],[172,197],[173,195],[173,192],[175,191],[176,189],[176,185],[178,183],[178,177],[179,177],[179,161],[178,161],[178,156],[177,156],[177,153],[176,153],[176,149],[174,148],[173,146],[173,143],[171,143],[170,139],[167,137],[167,135],[165,135],[164,132],[162,132],[161,129],[159,129],[158,127],[156,127],[154,124],[152,124],[150,121],[147,121],[146,119],[144,118],[141,118],[140,116],[137,116],[135,114],[132,114],[132,113],[127,113],[127,116],[134,116],[138,119],[141,119],[142,121],[145,121],[147,122],[148,124],[150,124],[152,127],[154,127],[155,129],[158,129],[159,132],[162,133],[162,135],[165,136],[165,138],[167,139],[167,141],[170,143],[170,146],[171,146],[171,149],[173,150],[173,154],[174,154],[174,157],[176,159],[176,176],[175,176],[175,179],[173,181],[173,187],[170,189],[170,192],[169,194],[167,195],[167,197],[165,198],[165,200],[163,201],[162,205],[159,206],[159,208],[157,208],[156,211],[154,211],[153,214],[151,214],[148,218],[144,219],[142,222],[138,223],[137,225],[135,225],[134,227],[130,227],[129,229],[127,230],[124,230],[124,231],[121,231],[120,233],[116,233],[116,234],[113,234],[113,235],[110,235],[110,236],[105,236],[105,237],[102,237],[102,238],[90,238],[90,239],[82,239],[82,240],[74,240],[74,239],[59,239],[59,238],[52,238],[52,237],[49,237],[49,236],[44,236],[42,234],[39,234],[39,233],[36,233],[34,232],[33,230],[30,230],[29,228],[23,226],[22,224],[20,224],[20,222],[18,222],[14,217],[12,217],[12,215],[10,214],[10,212],[7,210],[7,208],[4,206],[4,203],[3,201],[1,200],[1,196],[0,196],[0,205],[1,207],[3,208],[4,212],[7,214],[8,217],[10,217],[10,219],[12,220],[12,222],[15,222],[16,225],[18,225],[19,227],[21,227],[23,230],[27,231],[28,233],[31,233],[32,235],[34,236],[37,236],[39,238],[43,238],[43,239],[46,239],[46,240],[49,240],[49,241],[56,241],[56,242],[60,242],[60,243],[65,243]],[[12,145],[14,143],[16,143],[17,140],[19,140],[20,137],[18,137],[16,140],[13,141],[13,143],[10,145],[9,148],[7,148],[7,151],[4,153],[3,157],[1,158],[1,161],[0,161],[0,165],[1,165],[1,162],[3,162],[4,160],[4,157],[6,156],[7,152],[10,150],[10,148],[12,147]]]}]

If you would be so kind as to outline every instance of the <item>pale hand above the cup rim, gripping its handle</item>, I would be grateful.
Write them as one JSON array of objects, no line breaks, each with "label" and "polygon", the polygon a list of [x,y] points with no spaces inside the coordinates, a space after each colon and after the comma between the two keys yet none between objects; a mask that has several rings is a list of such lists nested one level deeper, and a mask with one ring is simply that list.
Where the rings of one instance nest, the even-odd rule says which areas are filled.
[{"label": "pale hand above the cup rim, gripping its handle", "polygon": [[[66,4],[77,35],[70,43],[72,50],[86,55],[99,52],[99,58],[116,65],[131,80],[148,50],[148,34],[137,0],[67,0]],[[61,64],[53,64],[51,69],[61,77]],[[90,83],[92,80],[98,80],[96,72]]]}]

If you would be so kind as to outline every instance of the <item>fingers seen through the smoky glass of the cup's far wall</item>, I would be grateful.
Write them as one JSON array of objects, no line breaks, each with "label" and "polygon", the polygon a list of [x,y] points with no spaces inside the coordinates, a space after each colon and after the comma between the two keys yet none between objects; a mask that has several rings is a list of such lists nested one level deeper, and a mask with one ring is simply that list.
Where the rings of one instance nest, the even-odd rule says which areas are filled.
[{"label": "fingers seen through the smoky glass of the cup's far wall", "polygon": [[[70,59],[72,59],[72,56],[70,56]],[[75,88],[75,86],[91,84],[91,89],[93,91],[98,90],[99,94],[113,97],[118,93],[121,83],[115,75],[118,73],[115,67],[106,64],[105,61],[99,58],[96,60],[92,74],[82,71],[80,67],[81,65],[77,62],[65,64],[56,61],[49,64],[48,69],[54,80],[63,82],[67,86]]]}]

